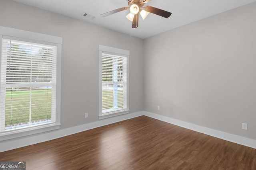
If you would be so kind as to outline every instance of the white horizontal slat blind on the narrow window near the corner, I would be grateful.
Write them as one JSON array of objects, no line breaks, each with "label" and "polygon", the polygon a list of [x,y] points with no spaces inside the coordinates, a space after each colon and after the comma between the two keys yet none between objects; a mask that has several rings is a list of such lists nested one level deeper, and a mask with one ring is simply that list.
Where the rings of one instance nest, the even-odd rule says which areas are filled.
[{"label": "white horizontal slat blind on the narrow window near the corner", "polygon": [[127,57],[102,53],[102,114],[127,109]]}]

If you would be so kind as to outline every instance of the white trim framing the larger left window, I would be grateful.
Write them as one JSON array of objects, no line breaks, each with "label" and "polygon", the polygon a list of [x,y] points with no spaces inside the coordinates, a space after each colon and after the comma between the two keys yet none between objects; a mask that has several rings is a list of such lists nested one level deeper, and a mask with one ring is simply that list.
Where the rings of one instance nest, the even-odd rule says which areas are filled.
[{"label": "white trim framing the larger left window", "polygon": [[[56,122],[52,124],[40,125],[36,127],[29,127],[24,129],[17,129],[15,131],[6,131],[0,133],[0,141],[33,135],[46,131],[52,131],[60,128],[60,99],[61,99],[61,51],[62,51],[62,38],[53,35],[46,35],[42,33],[35,33],[24,31],[21,29],[14,29],[9,27],[0,26],[0,57],[2,56],[2,38],[3,36],[15,37],[23,41],[33,43],[54,44],[57,46],[57,66],[56,66]],[[1,60],[0,60],[1,61]],[[1,65],[1,63],[0,63]]]}]

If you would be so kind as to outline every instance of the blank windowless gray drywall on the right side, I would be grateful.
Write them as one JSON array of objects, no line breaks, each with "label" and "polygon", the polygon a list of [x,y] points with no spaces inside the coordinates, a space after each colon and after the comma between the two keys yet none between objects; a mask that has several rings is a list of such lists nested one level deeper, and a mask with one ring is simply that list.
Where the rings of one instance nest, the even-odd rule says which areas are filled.
[{"label": "blank windowless gray drywall on the right side", "polygon": [[255,18],[252,3],[145,39],[145,111],[256,139]]}]

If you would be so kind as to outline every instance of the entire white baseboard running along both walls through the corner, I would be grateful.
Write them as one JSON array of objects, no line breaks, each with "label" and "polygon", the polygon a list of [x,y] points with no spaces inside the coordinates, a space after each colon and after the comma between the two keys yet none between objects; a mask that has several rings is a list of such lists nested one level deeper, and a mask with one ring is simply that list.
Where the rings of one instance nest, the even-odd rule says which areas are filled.
[{"label": "entire white baseboard running along both walls through the corner", "polygon": [[172,119],[170,117],[158,115],[158,114],[155,114],[155,113],[150,113],[150,112],[147,112],[147,111],[140,111],[140,112],[129,113],[129,114],[120,115],[120,116],[112,117],[112,118],[108,118],[108,119],[102,119],[102,120],[99,120],[99,121],[96,121],[96,122],[87,123],[87,124],[79,125],[79,126],[75,126],[75,127],[70,127],[70,128],[67,128],[67,129],[60,129],[60,130],[55,130],[55,131],[49,131],[49,132],[46,132],[46,133],[39,133],[37,135],[32,135],[32,136],[26,136],[26,137],[20,137],[20,138],[16,138],[16,139],[1,141],[0,142],[0,152],[4,152],[4,151],[7,151],[7,150],[12,150],[12,149],[17,149],[17,148],[20,148],[20,147],[26,147],[26,146],[29,146],[29,145],[34,145],[34,144],[45,142],[45,141],[50,141],[50,140],[57,139],[57,138],[60,138],[60,137],[72,135],[72,134],[79,133],[79,132],[82,132],[82,131],[87,131],[87,130],[90,130],[90,129],[94,129],[96,127],[109,125],[109,124],[116,123],[116,122],[119,122],[119,121],[124,121],[124,120],[127,120],[127,119],[132,119],[134,117],[138,117],[138,116],[142,116],[142,115],[152,117],[154,119],[158,119],[158,120],[161,120],[161,121],[164,121],[164,122],[167,122],[167,123],[171,123],[173,125],[184,127],[186,129],[190,129],[190,130],[193,130],[193,131],[204,133],[206,135],[210,135],[210,136],[213,136],[213,137],[224,139],[226,141],[230,141],[230,142],[233,142],[233,143],[238,143],[240,145],[244,145],[244,146],[256,149],[256,140],[253,140],[253,139],[248,139],[248,138],[245,138],[245,137],[232,135],[230,133],[217,131],[217,130],[210,129],[210,128],[207,128],[207,127],[194,125],[192,123],[180,121],[180,120],[177,120],[177,119]]}]

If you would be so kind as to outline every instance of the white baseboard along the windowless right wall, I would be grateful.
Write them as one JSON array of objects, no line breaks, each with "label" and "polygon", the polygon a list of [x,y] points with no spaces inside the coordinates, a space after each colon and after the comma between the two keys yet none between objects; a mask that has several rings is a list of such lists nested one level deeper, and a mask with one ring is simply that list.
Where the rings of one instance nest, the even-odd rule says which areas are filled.
[{"label": "white baseboard along the windowless right wall", "polygon": [[166,116],[163,116],[163,115],[158,115],[158,114],[155,114],[155,113],[150,113],[148,111],[144,111],[144,115],[148,116],[148,117],[152,117],[154,119],[158,119],[158,120],[167,122],[167,123],[171,123],[173,125],[184,127],[186,129],[190,129],[192,131],[197,131],[197,132],[200,132],[200,133],[204,133],[206,135],[210,135],[210,136],[213,136],[213,137],[224,139],[226,141],[230,141],[230,142],[233,142],[233,143],[237,143],[237,144],[240,144],[240,145],[244,145],[246,147],[251,147],[251,148],[256,149],[256,140],[253,140],[253,139],[249,139],[249,138],[246,138],[246,137],[240,137],[240,136],[237,136],[237,135],[233,135],[233,134],[222,132],[222,131],[217,131],[217,130],[210,129],[210,128],[207,128],[207,127],[202,127],[202,126],[199,126],[199,125],[194,125],[192,123],[188,123],[188,122],[185,122],[185,121],[180,121],[180,120],[177,120],[177,119],[172,119],[170,117],[166,117]]}]

